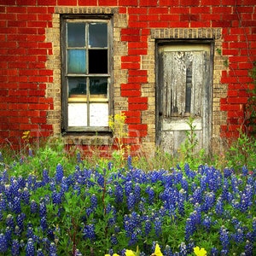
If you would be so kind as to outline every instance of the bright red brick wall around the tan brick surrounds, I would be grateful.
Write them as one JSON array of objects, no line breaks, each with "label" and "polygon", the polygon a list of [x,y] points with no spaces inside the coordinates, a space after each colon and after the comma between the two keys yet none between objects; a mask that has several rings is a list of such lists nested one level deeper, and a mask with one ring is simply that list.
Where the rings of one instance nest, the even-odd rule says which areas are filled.
[{"label": "bright red brick wall around the tan brick surrounds", "polygon": [[227,96],[220,109],[227,113],[224,137],[236,136],[244,121],[247,85],[252,82],[248,70],[256,59],[255,0],[0,0],[0,142],[17,142],[23,131],[47,137],[53,131],[47,113],[53,99],[46,95],[53,71],[46,67],[52,44],[45,41],[45,30],[52,26],[55,6],[112,6],[129,18],[121,30],[121,40],[128,42],[128,55],[121,57],[121,68],[128,70],[121,96],[128,101],[127,124],[147,136],[141,113],[148,99],[141,95],[141,85],[148,73],[141,70],[141,56],[148,52],[150,28],[221,27],[222,55],[228,68],[220,82],[227,84]]}]

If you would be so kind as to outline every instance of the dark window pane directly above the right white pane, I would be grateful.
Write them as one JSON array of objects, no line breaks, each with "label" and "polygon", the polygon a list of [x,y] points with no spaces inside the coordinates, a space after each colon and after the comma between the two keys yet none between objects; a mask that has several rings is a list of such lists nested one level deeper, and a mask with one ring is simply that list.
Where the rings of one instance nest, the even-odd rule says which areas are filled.
[{"label": "dark window pane directly above the right white pane", "polygon": [[108,97],[108,78],[90,78],[90,97]]}]

